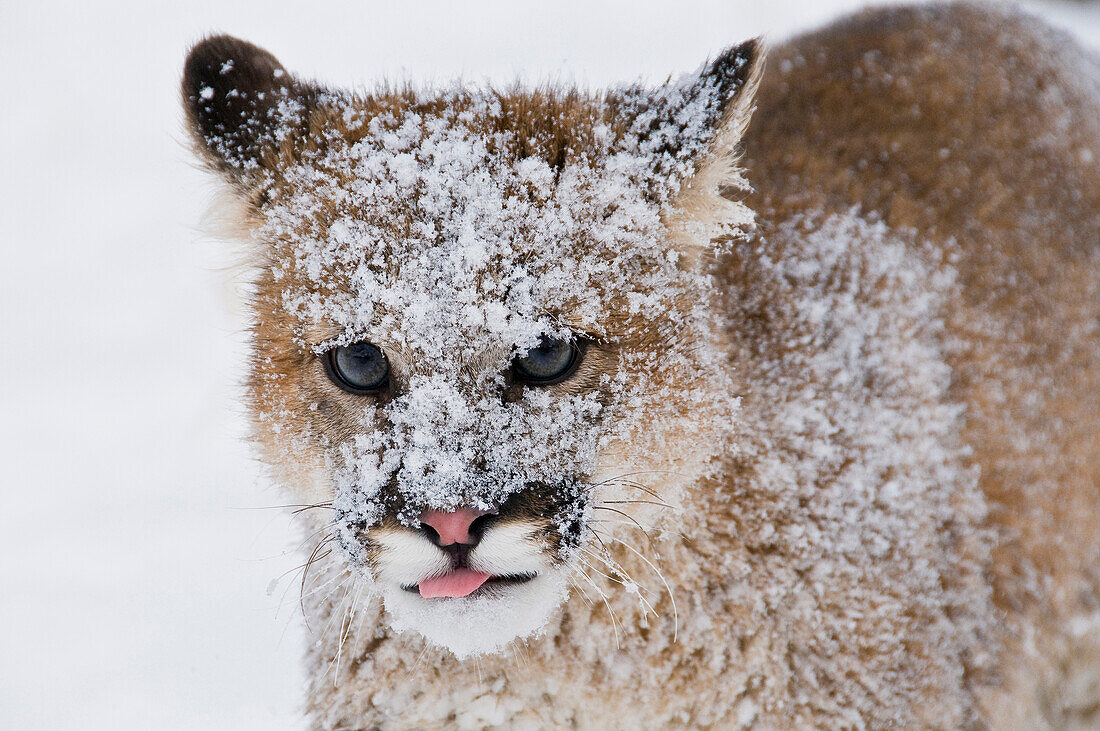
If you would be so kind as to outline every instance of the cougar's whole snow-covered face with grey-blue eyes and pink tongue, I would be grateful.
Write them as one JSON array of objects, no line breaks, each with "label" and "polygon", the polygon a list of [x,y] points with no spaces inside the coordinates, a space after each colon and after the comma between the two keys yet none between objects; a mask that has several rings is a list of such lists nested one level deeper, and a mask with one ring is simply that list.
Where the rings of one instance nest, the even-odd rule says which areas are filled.
[{"label": "cougar's whole snow-covered face with grey-blue eyes and pink tongue", "polygon": [[[531,634],[602,510],[652,524],[639,490],[674,502],[721,450],[735,399],[683,239],[744,211],[676,214],[724,101],[690,81],[641,104],[293,97],[239,166],[265,253],[258,441],[331,508],[326,540],[394,629],[459,656]],[[218,93],[198,87],[199,123]],[[224,156],[229,137],[204,140]]]}]

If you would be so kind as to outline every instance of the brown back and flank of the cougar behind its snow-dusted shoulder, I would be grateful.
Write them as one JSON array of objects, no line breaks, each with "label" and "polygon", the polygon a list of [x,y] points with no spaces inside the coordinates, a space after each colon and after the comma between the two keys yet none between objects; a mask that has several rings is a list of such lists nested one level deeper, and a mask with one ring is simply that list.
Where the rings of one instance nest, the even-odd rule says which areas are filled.
[{"label": "brown back and flank of the cougar behind its snow-dusted shoulder", "polygon": [[1100,722],[1098,647],[1067,636],[1100,607],[1100,66],[1036,26],[939,5],[800,38],[745,143],[765,236],[858,206],[958,245],[952,396],[998,535],[999,728]]}]

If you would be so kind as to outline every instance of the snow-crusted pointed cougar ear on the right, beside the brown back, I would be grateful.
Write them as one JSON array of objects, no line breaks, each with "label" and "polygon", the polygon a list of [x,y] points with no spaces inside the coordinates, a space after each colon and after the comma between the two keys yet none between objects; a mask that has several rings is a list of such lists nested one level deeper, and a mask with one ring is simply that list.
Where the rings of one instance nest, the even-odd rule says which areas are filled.
[{"label": "snow-crusted pointed cougar ear on the right, beside the brown back", "polygon": [[657,91],[627,90],[622,114],[628,137],[653,158],[654,184],[674,195],[703,154],[734,155],[752,113],[752,99],[763,70],[759,38],[727,48],[698,74]]}]

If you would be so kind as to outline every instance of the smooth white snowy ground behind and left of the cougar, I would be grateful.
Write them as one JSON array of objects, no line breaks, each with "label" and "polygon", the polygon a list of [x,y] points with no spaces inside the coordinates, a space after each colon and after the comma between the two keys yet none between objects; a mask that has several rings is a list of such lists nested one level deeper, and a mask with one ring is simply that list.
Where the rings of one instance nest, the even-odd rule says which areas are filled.
[{"label": "smooth white snowy ground behind and left of the cougar", "polygon": [[[268,591],[295,533],[239,441],[240,313],[180,144],[189,43],[342,85],[597,86],[859,4],[0,2],[0,729],[302,726],[295,588]],[[1100,47],[1100,4],[1036,7]]]}]

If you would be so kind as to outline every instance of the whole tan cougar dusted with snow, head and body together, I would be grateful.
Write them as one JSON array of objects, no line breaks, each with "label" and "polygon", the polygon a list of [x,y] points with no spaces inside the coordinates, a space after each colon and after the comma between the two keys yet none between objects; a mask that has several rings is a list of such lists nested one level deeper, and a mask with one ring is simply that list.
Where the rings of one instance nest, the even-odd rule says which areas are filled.
[{"label": "whole tan cougar dusted with snow, head and body together", "polygon": [[[774,49],[762,77],[755,45],[730,52],[700,76],[718,79],[724,109],[696,112],[702,128],[670,115],[683,137],[659,144],[651,141],[663,134],[664,108],[639,102],[637,89],[607,99],[509,91],[484,107],[484,122],[481,102],[461,95],[364,101],[272,87],[272,69],[287,77],[270,55],[232,40],[207,43],[184,88],[199,147],[244,193],[244,230],[273,252],[257,263],[257,441],[279,479],[322,507],[307,513],[318,533],[304,596],[316,728],[1100,724],[1100,66],[1066,37],[986,7],[870,11]],[[233,126],[246,114],[224,110],[238,108],[218,107],[218,79],[242,67],[265,79],[256,88],[294,102],[270,112],[285,115],[270,139]],[[227,104],[238,90],[224,93]],[[449,106],[459,109],[453,118]],[[410,110],[427,132],[403,152]],[[367,130],[356,114],[383,121]],[[629,119],[618,124],[616,115]],[[492,164],[448,178],[466,186],[465,202],[429,204],[431,180],[464,164],[439,163],[461,146],[446,134],[462,125],[484,134],[488,152],[480,142],[470,149]],[[703,142],[693,148],[692,140]],[[740,148],[739,174],[732,152]],[[338,154],[351,167],[337,165]],[[664,162],[630,167],[645,155]],[[590,164],[627,170],[637,188],[622,184],[620,200],[594,203],[612,184],[585,178]],[[495,175],[495,165],[519,170],[502,188],[512,192],[471,182]],[[672,180],[685,169],[662,187],[661,175]],[[322,202],[304,207],[318,170]],[[356,197],[367,189],[354,187],[355,176],[373,181],[367,198]],[[402,192],[406,179],[419,192]],[[398,187],[386,188],[389,180]],[[521,203],[508,197],[524,186],[531,192]],[[569,186],[574,200],[604,207],[572,239],[578,261],[617,262],[596,280],[666,281],[675,296],[661,304],[647,300],[660,292],[613,291],[564,307],[558,324],[524,331],[515,345],[507,333],[476,345],[496,355],[459,348],[432,361],[433,343],[457,328],[471,329],[461,341],[471,344],[481,330],[527,322],[463,309],[491,299],[484,292],[496,291],[488,280],[498,276],[492,263],[477,268],[470,246],[490,230],[534,241],[540,226],[525,233],[515,211],[550,206],[548,190],[565,200]],[[410,196],[425,197],[417,213],[402,208]],[[741,203],[755,229],[738,218]],[[454,223],[453,211],[474,206],[483,224]],[[561,223],[562,206],[547,231],[573,225]],[[640,232],[630,244],[640,253],[626,264],[624,244],[605,251],[610,234],[592,233],[623,210],[654,211],[649,223],[622,219]],[[459,252],[446,266],[471,267],[480,284],[462,289],[444,266],[446,276],[406,296],[400,277],[435,259],[399,247],[427,235],[418,232],[429,223],[442,247],[432,251]],[[395,248],[372,244],[388,253],[363,255],[363,231]],[[646,241],[664,235],[668,258],[651,257]],[[333,239],[339,245],[324,248]],[[446,248],[459,240],[465,248]],[[540,269],[539,255],[515,265],[542,273],[531,291],[562,261],[556,254]],[[669,266],[703,278],[678,279]],[[592,267],[604,272],[585,264],[564,269],[572,274],[563,281],[588,291]],[[501,290],[508,307],[532,286],[524,281]],[[361,322],[364,291],[389,309],[371,309]],[[584,302],[606,309],[585,320]],[[636,323],[647,307],[666,313],[659,326]],[[457,319],[446,319],[452,311]],[[542,317],[531,312],[530,322]],[[415,329],[402,318],[442,334],[395,335],[386,322]],[[554,334],[560,323],[575,335]],[[578,375],[540,386],[529,375],[532,354],[568,348],[574,336]],[[356,391],[345,374],[333,376],[343,362],[326,354],[356,339],[355,367],[391,368],[388,385]],[[527,356],[508,365],[517,346]],[[448,370],[448,358],[466,365]],[[429,362],[436,372],[417,370]],[[477,380],[477,368],[490,375]],[[615,386],[622,373],[625,385]],[[469,395],[476,389],[491,398]],[[414,401],[441,403],[432,413],[446,416],[418,421]],[[556,403],[574,406],[547,411]],[[549,451],[537,435],[518,442],[521,457],[561,461],[550,470],[563,476],[557,491],[542,473],[499,491],[519,479],[507,448],[520,438],[494,446],[493,434],[518,433],[514,418],[541,424],[539,434],[569,425]],[[616,431],[613,421],[627,425]],[[391,429],[398,436],[382,440]],[[574,443],[573,432],[596,441]],[[491,456],[474,454],[482,447]],[[448,478],[461,492],[452,499],[438,489],[455,459],[465,466]],[[475,473],[496,480],[497,492],[468,479]],[[504,547],[492,557],[476,557],[488,546],[454,553],[475,544],[466,531],[479,524],[487,525],[483,544],[496,536]],[[527,536],[526,549],[503,543],[525,527],[536,527],[515,533]],[[431,543],[457,563],[414,571],[436,566],[408,563],[426,552],[443,561]],[[512,556],[527,562],[526,573],[504,565]],[[562,599],[540,577],[571,566],[574,588]],[[477,595],[477,583],[492,579],[502,594]],[[370,599],[376,586],[384,606]],[[468,595],[481,599],[428,598]],[[525,598],[494,614],[497,596]],[[544,630],[513,629],[513,613],[534,605],[530,621],[548,616]],[[507,629],[499,642],[463,638],[461,614],[429,613],[440,607],[470,607],[474,635]],[[504,646],[513,636],[527,639]]]}]

